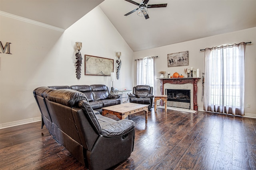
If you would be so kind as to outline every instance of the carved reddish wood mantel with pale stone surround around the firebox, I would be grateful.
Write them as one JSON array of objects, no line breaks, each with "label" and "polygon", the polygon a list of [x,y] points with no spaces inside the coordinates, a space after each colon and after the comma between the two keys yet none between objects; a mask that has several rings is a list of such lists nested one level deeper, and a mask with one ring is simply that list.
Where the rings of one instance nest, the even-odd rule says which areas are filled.
[{"label": "carved reddish wood mantel with pale stone surround around the firebox", "polygon": [[197,82],[200,78],[159,78],[161,86],[161,94],[165,93],[165,89],[188,89],[190,90],[191,106],[194,110],[198,110],[197,106]]}]

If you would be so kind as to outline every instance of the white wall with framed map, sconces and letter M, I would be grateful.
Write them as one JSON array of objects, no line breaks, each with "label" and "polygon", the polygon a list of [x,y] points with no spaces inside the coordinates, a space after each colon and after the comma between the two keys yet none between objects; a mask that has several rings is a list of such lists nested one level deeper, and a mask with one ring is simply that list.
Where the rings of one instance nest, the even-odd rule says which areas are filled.
[{"label": "white wall with framed map, sconces and letter M", "polygon": [[[84,54],[114,59],[121,51],[119,89],[132,88],[132,50],[99,7],[94,8],[64,33],[0,16],[0,41],[10,42],[10,54],[0,53],[0,125],[33,120],[40,111],[32,94],[39,86],[106,84],[110,76],[84,75]],[[75,42],[82,42],[82,74],[75,74]],[[115,70],[114,66],[114,70]],[[25,122],[25,121],[24,121]],[[15,124],[15,123],[14,123]],[[1,126],[0,126],[1,128]]]}]

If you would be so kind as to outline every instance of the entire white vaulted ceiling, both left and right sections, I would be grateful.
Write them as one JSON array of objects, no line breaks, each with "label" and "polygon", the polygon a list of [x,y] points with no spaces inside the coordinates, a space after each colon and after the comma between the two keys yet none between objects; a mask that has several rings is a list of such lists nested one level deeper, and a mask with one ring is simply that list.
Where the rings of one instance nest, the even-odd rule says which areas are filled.
[{"label": "entire white vaulted ceiling, both left and right sections", "polygon": [[148,2],[164,3],[149,8],[147,20],[136,12],[124,16],[138,8],[125,0],[0,0],[0,10],[66,29],[99,5],[133,51],[256,27],[256,0]]}]

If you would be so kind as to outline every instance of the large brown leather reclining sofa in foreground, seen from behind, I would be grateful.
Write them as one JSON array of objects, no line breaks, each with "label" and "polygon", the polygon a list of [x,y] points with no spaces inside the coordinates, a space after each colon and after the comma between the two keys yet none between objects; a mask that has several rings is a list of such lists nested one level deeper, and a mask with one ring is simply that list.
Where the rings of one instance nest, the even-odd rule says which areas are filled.
[{"label": "large brown leather reclining sofa in foreground, seen from behind", "polygon": [[33,94],[52,137],[86,168],[108,169],[130,156],[133,121],[100,115],[77,90],[39,87]]}]

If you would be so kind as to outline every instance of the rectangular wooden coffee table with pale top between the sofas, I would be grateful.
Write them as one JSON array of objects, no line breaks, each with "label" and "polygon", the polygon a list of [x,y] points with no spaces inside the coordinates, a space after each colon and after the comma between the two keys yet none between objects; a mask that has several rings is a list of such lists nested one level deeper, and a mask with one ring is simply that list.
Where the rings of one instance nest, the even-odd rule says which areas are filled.
[{"label": "rectangular wooden coffee table with pale top between the sofas", "polygon": [[125,119],[127,116],[138,113],[140,111],[145,111],[146,120],[148,120],[148,105],[136,104],[136,103],[125,103],[118,104],[114,106],[108,106],[102,108],[102,115],[107,113],[116,115],[119,119]]}]

